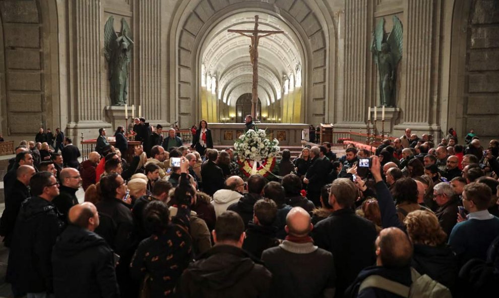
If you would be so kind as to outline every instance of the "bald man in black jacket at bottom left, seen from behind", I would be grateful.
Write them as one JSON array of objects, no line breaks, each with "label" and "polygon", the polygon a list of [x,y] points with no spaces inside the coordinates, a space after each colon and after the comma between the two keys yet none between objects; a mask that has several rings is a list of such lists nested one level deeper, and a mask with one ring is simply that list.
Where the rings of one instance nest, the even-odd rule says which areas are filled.
[{"label": "bald man in black jacket at bottom left, seen from behind", "polygon": [[56,297],[119,297],[114,254],[101,236],[99,213],[85,202],[68,212],[70,224],[52,250]]}]

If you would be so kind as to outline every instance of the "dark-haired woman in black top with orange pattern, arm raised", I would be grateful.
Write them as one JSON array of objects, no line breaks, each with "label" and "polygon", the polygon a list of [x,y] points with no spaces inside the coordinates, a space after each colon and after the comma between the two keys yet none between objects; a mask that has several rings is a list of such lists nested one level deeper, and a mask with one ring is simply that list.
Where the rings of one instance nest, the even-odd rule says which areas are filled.
[{"label": "dark-haired woman in black top with orange pattern, arm raised", "polygon": [[193,260],[188,232],[193,200],[188,190],[192,186],[186,178],[188,168],[180,167],[182,174],[175,189],[176,216],[170,221],[168,207],[161,201],[150,202],[144,210],[144,227],[152,235],[140,243],[130,265],[132,277],[143,283],[142,296],[169,296],[183,270]]}]

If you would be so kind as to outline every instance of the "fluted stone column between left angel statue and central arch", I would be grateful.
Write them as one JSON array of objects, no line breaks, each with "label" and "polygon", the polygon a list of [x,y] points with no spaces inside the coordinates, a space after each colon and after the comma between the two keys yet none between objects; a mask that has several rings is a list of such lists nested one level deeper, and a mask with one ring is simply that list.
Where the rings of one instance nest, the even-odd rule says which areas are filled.
[{"label": "fluted stone column between left angel statue and central arch", "polygon": [[167,102],[161,100],[161,1],[139,1],[136,58],[139,59],[139,98],[147,121],[164,123]]}]

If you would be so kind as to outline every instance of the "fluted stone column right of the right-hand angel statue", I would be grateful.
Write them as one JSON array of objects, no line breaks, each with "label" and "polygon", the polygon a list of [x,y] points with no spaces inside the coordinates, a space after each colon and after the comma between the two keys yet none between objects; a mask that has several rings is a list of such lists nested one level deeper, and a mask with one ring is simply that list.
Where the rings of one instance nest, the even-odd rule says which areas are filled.
[{"label": "fluted stone column right of the right-hand angel statue", "polygon": [[400,102],[403,123],[395,127],[397,130],[407,126],[413,131],[440,131],[432,117],[438,104],[440,3],[407,0],[404,7],[405,80]]}]

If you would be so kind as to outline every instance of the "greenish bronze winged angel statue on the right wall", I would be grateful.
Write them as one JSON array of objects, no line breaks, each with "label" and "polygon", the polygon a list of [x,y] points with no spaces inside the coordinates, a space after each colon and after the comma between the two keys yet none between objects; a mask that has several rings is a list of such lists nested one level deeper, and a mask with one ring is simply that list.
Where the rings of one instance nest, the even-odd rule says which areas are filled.
[{"label": "greenish bronze winged angel statue on the right wall", "polygon": [[[371,52],[378,65],[380,75],[381,105],[395,106],[397,65],[402,58],[402,23],[393,16],[393,29],[390,34],[384,31],[385,19],[380,19],[372,32]],[[388,36],[387,36],[388,35]]]}]

